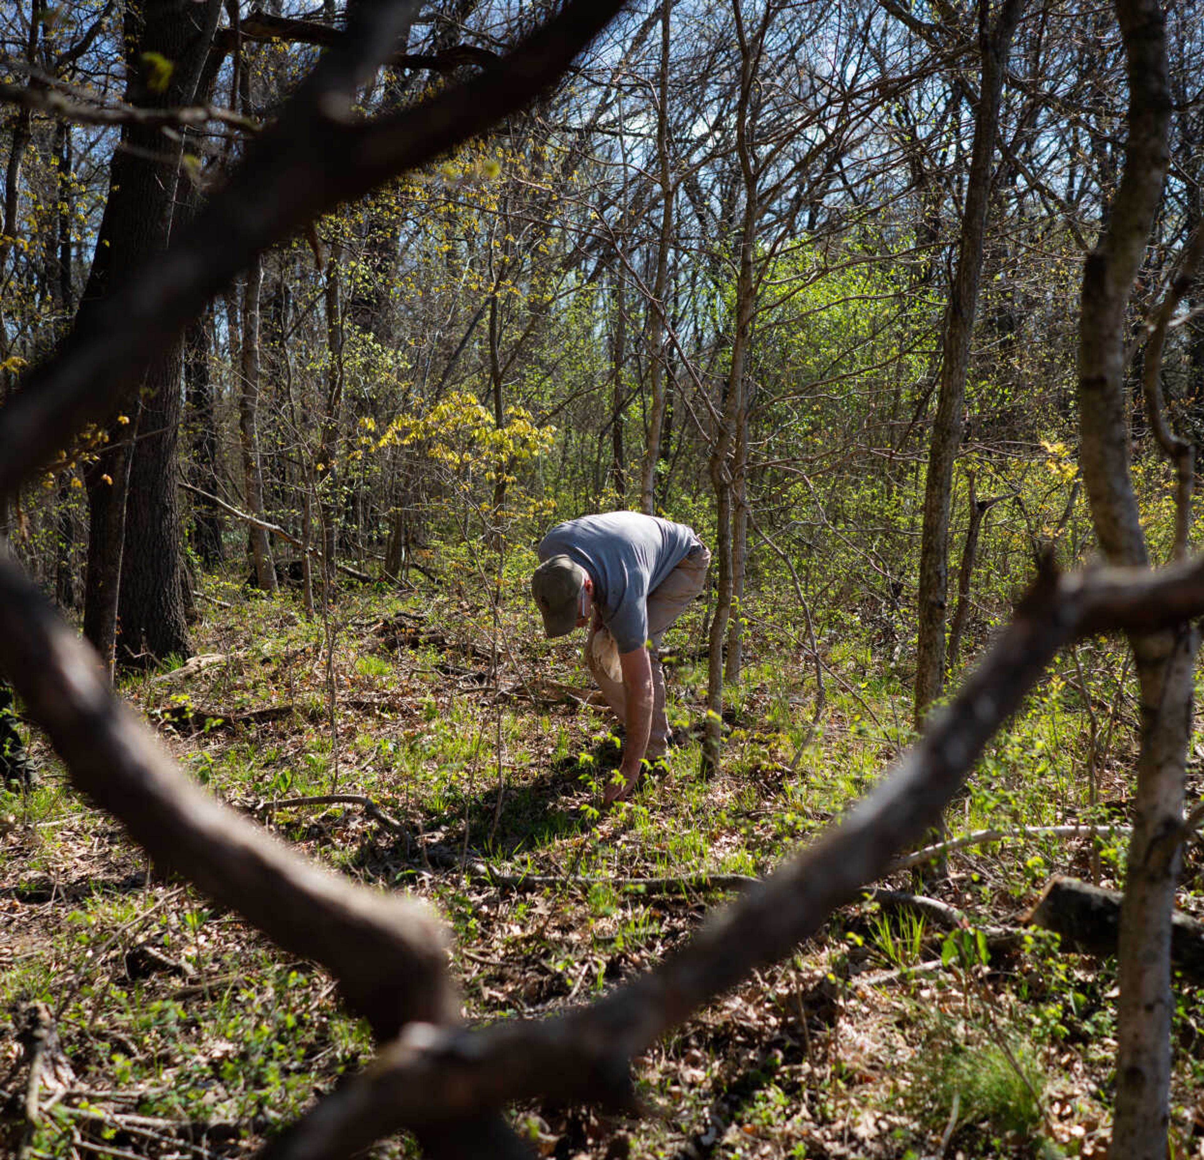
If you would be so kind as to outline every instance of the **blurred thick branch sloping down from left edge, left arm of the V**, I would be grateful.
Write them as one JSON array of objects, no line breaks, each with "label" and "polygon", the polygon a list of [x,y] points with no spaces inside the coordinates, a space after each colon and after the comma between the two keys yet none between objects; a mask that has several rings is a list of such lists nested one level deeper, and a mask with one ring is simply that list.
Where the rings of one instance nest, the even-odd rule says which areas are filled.
[{"label": "blurred thick branch sloping down from left edge, left arm of the V", "polygon": [[71,769],[154,860],[321,963],[348,1006],[386,1037],[458,1013],[443,933],[424,906],[356,889],[266,838],[178,768],[112,692],[95,653],[12,558],[0,555],[0,665]]}]

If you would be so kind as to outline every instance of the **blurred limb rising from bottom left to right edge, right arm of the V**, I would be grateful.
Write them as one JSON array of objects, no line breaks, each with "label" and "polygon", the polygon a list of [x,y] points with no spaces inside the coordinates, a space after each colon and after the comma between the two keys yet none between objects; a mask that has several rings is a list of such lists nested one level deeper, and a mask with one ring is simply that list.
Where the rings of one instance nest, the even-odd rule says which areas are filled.
[{"label": "blurred limb rising from bottom left to right edge, right arm of the V", "polygon": [[[455,1118],[541,1096],[631,1107],[628,1065],[702,1004],[814,934],[890,865],[957,791],[981,747],[1072,639],[1204,609],[1204,562],[1162,573],[1045,579],[927,735],[881,786],[793,862],[720,912],[661,967],[600,1002],[478,1032],[411,1028],[368,1072],[321,1101],[268,1150],[273,1160],[346,1156],[436,1114]],[[1167,622],[1169,622],[1169,619]]]}]

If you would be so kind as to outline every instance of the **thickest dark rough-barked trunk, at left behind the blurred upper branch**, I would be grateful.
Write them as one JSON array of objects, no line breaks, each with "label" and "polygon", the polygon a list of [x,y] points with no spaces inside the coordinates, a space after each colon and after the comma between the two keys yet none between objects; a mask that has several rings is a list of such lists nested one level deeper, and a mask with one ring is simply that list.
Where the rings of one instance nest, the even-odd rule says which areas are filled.
[{"label": "thickest dark rough-barked trunk, at left behind the blurred upper branch", "polygon": [[[191,103],[217,26],[219,0],[146,0],[125,11],[125,100],[142,107]],[[164,76],[161,63],[170,63]],[[92,273],[81,320],[126,272],[166,248],[176,207],[182,142],[178,135],[129,125],[113,152]],[[106,422],[124,434],[119,415],[138,414],[135,442],[105,448],[87,472],[90,515],[84,632],[102,657],[137,664],[169,653],[187,656],[181,525],[176,470],[181,419],[181,344],[157,353],[135,392]],[[128,490],[126,490],[128,489]],[[128,502],[132,496],[132,502]]]}]

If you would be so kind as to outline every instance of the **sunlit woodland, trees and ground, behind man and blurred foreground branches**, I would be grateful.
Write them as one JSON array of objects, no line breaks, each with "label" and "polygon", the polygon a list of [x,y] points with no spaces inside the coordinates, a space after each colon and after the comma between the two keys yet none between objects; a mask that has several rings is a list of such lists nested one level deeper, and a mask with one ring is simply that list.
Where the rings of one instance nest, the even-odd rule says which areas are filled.
[{"label": "sunlit woodland, trees and ground, behind man and blurred foreground branches", "polygon": [[[12,548],[211,792],[438,902],[471,1018],[602,992],[839,816],[1034,576],[1144,563],[1088,504],[1080,318],[1140,124],[1129,7],[632,6],[533,103],[238,264],[5,489]],[[415,7],[346,123],[488,77],[557,13]],[[16,400],[254,173],[344,13],[96,0],[0,19]],[[1156,562],[1186,555],[1204,421],[1192,5],[1163,45],[1165,180],[1111,431]],[[337,171],[325,144],[314,167]],[[249,188],[276,211],[271,180]],[[17,455],[7,470],[29,475]],[[624,507],[692,525],[715,566],[671,641],[685,744],[598,818],[615,745],[571,649],[535,639],[526,590],[549,523]],[[523,1130],[566,1155],[1102,1154],[1115,964],[1016,916],[1052,871],[1126,884],[1149,663],[1099,635],[1060,653],[950,815],[969,840],[940,852],[933,905],[903,874],[642,1058],[678,1119],[536,1106]],[[320,973],[203,895],[131,886],[130,848],[25,740],[45,768],[6,798],[8,1063],[34,1091],[8,1093],[14,1147],[225,1154],[367,1057]],[[1180,801],[1185,767],[1199,797],[1187,740]],[[1168,864],[1187,912],[1199,865],[1190,847]],[[18,1050],[28,1018],[70,1079]],[[1191,978],[1165,1023],[1161,1103],[1134,1099],[1163,1148],[1197,1154]]]}]

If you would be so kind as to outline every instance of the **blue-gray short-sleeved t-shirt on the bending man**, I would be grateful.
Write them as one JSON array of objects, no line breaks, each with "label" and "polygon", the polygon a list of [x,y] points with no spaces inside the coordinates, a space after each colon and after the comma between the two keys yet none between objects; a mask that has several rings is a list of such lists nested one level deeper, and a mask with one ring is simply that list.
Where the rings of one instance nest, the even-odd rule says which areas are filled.
[{"label": "blue-gray short-sleeved t-shirt on the bending man", "polygon": [[694,529],[639,511],[606,511],[557,523],[539,560],[563,554],[594,580],[594,603],[620,652],[648,643],[648,596],[700,543]]}]

